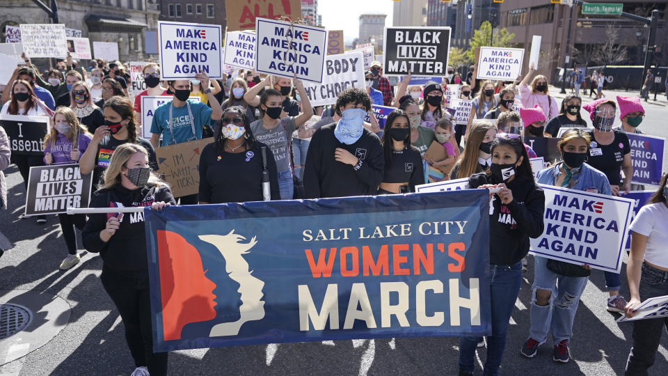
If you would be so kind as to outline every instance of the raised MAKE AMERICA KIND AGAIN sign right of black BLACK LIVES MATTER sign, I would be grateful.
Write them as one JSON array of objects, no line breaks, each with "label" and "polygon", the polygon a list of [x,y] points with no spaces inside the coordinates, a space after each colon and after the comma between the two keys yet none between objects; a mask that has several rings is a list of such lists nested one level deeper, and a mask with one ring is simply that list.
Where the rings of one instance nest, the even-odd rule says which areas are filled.
[{"label": "raised MAKE AMERICA KIND AGAIN sign right of black BLACK LIVES MATTER sign", "polygon": [[523,48],[480,47],[477,79],[514,81],[522,73]]}]

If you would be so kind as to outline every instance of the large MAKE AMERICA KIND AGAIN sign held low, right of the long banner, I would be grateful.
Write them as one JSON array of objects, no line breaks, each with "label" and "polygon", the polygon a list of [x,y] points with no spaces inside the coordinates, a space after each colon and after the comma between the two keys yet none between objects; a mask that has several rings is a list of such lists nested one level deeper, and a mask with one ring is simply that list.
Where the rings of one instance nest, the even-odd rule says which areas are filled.
[{"label": "large MAKE AMERICA KIND AGAIN sign held low, right of the long banner", "polygon": [[545,230],[530,239],[530,253],[619,273],[633,200],[540,186],[545,192]]}]

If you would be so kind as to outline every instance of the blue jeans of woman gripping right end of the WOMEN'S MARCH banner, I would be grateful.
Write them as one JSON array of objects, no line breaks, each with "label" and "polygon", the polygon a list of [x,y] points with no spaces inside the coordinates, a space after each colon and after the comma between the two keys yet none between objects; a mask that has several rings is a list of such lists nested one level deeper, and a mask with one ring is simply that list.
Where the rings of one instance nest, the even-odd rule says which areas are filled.
[{"label": "blue jeans of woman gripping right end of the WOMEN'S MARCH banner", "polygon": [[[506,347],[508,321],[522,284],[522,262],[514,265],[489,265],[492,311],[492,335],[487,337],[487,359],[484,374],[498,375]],[[459,370],[473,372],[475,349],[482,337],[459,338]]]}]

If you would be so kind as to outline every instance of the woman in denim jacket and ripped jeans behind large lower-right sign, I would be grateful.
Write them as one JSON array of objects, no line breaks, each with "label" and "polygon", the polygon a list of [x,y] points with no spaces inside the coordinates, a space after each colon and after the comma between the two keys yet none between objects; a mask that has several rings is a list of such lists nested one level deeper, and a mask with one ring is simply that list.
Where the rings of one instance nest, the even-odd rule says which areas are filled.
[{"label": "woman in denim jacket and ripped jeans behind large lower-right sign", "polygon": [[[582,130],[564,132],[557,147],[562,161],[543,169],[536,176],[540,184],[554,185],[578,191],[610,194],[610,183],[605,174],[584,162],[589,155],[591,140]],[[587,286],[591,268],[534,256],[534,283],[530,306],[531,327],[529,338],[520,353],[536,356],[539,345],[546,342],[552,329],[555,346],[552,360],[567,363],[568,345],[573,336],[573,321],[578,311],[580,296]]]}]

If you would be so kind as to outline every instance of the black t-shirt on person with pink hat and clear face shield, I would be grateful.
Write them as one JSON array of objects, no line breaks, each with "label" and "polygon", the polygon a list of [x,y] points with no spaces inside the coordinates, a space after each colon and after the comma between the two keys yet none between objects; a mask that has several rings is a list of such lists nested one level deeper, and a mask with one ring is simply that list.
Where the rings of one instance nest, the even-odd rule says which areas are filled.
[{"label": "black t-shirt on person with pink hat and clear face shield", "polygon": [[600,145],[594,137],[594,130],[589,131],[591,148],[587,164],[598,171],[605,173],[610,185],[620,185],[621,175],[619,173],[624,156],[631,152],[628,137],[625,132],[613,131],[614,140],[610,145]]}]

